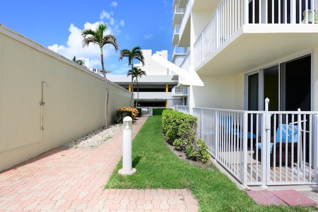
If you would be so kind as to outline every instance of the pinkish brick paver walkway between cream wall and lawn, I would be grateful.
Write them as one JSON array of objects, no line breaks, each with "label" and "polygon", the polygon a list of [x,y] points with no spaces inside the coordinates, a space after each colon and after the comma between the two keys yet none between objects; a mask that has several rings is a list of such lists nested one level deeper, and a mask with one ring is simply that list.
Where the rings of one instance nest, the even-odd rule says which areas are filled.
[{"label": "pinkish brick paver walkway between cream wall and lawn", "polygon": [[[134,122],[133,137],[146,119]],[[186,189],[103,190],[122,156],[122,134],[94,149],[55,148],[0,172],[0,212],[197,212]]]}]

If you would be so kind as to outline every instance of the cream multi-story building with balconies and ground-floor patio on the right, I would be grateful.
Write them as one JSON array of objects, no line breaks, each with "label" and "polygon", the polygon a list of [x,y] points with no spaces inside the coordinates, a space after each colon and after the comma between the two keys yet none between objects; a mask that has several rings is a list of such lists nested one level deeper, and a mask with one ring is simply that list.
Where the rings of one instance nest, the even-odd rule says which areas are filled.
[{"label": "cream multi-story building with balconies and ground-floor patio on the right", "polygon": [[[245,142],[254,140],[248,146],[243,145],[243,148],[251,148],[252,152],[255,140],[264,145],[262,150],[266,154],[260,156],[258,151],[252,152],[259,161],[262,158],[260,168],[254,170],[246,161],[254,164],[257,159],[245,157],[245,150],[241,152],[244,158],[239,161],[243,165],[238,167],[233,165],[235,161],[232,156],[229,156],[232,162],[223,158],[224,152],[233,152],[228,145],[222,153],[217,144],[209,147],[212,156],[243,186],[318,182],[318,139],[314,135],[318,130],[315,112],[318,111],[317,8],[317,0],[173,0],[172,45],[175,51],[172,62],[186,71],[189,66],[192,67],[204,82],[204,86],[189,86],[189,107],[185,111],[195,115],[198,108],[219,108],[214,113],[219,115],[211,117],[231,117],[240,122],[235,130],[245,132],[243,138],[238,139]],[[266,97],[270,100],[268,119],[263,112],[267,107],[264,103]],[[220,115],[226,113],[224,109],[231,111]],[[296,115],[298,109],[302,112]],[[240,115],[241,118],[235,118]],[[247,117],[251,118],[247,120]],[[199,120],[204,122],[203,119]],[[212,123],[215,119],[209,120]],[[264,124],[263,120],[268,123]],[[281,173],[275,174],[275,171],[267,173],[269,169],[265,167],[270,163],[270,154],[273,154],[269,150],[272,146],[269,137],[275,136],[279,124],[290,122],[298,125],[303,138],[302,141],[295,141],[297,148],[301,149],[295,153],[299,157],[292,160],[297,172],[289,166],[290,163],[285,164],[281,159],[285,155],[277,149],[280,152],[280,158],[276,158],[276,162],[280,162],[277,166],[286,167],[286,176],[291,176],[286,178]],[[211,123],[208,125],[209,131],[201,126],[201,137],[210,132],[207,143],[214,142],[214,139],[222,142],[220,136],[229,131],[217,132],[221,129],[220,123],[215,122],[217,126]],[[248,133],[256,135],[247,138],[251,135]],[[236,142],[231,137],[229,141]],[[291,152],[289,148],[286,144],[286,152]],[[290,160],[290,155],[287,160]],[[301,162],[304,163],[299,169]],[[304,168],[305,163],[309,168]],[[237,172],[236,168],[242,168],[243,172]],[[249,172],[251,175],[246,174]],[[311,175],[313,173],[315,176]],[[302,176],[302,180],[295,180],[295,176]]]}]

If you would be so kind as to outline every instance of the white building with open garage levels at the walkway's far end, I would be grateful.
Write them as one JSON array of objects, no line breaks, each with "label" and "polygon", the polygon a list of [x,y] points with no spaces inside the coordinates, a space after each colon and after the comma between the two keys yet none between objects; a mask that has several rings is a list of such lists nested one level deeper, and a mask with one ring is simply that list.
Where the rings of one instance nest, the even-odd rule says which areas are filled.
[{"label": "white building with open garage levels at the walkway's far end", "polygon": [[[146,76],[138,77],[137,82],[134,79],[133,91],[135,103],[138,98],[137,107],[169,107],[183,105],[184,98],[187,96],[186,88],[176,88],[178,80],[172,79],[172,73],[152,59],[152,50],[142,50],[145,66],[135,64],[135,67],[146,71]],[[167,50],[157,51],[156,54],[167,59]],[[127,72],[129,67],[127,66]],[[131,75],[107,74],[107,78],[131,91]],[[139,97],[138,97],[139,96]],[[135,104],[134,104],[135,105]]]}]

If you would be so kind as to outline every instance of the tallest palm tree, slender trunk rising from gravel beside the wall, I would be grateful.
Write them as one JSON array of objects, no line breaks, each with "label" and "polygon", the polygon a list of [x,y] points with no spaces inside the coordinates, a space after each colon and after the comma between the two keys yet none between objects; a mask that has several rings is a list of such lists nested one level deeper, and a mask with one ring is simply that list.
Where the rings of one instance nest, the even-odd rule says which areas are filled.
[{"label": "tallest palm tree, slender trunk rising from gravel beside the wall", "polygon": [[88,46],[90,43],[99,46],[100,48],[100,59],[101,59],[101,67],[104,75],[105,85],[106,85],[106,100],[105,100],[105,127],[107,129],[107,105],[108,105],[108,82],[106,78],[106,72],[104,68],[104,58],[103,58],[103,46],[105,44],[111,44],[114,46],[115,51],[118,51],[118,44],[116,41],[116,37],[111,34],[105,34],[107,31],[107,24],[99,23],[95,30],[92,29],[84,29],[81,32],[82,36],[82,47]]}]

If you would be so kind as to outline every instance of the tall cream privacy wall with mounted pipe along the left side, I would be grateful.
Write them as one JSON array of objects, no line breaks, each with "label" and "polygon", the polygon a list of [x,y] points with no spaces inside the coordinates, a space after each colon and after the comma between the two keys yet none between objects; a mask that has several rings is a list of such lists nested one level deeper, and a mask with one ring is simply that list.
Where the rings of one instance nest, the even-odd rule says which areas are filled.
[{"label": "tall cream privacy wall with mounted pipe along the left side", "polygon": [[[105,91],[103,77],[0,25],[0,171],[103,127]],[[109,82],[109,124],[130,98]]]}]

